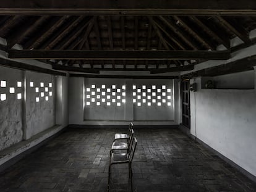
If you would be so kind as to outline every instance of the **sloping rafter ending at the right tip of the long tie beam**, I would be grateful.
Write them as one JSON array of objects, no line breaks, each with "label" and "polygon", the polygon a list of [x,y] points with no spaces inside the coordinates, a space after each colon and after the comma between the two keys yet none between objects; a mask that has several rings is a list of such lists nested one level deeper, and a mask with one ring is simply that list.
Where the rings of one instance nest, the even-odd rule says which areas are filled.
[{"label": "sloping rafter ending at the right tip of the long tie beam", "polygon": [[194,16],[190,16],[190,19],[194,20],[195,23],[197,23],[198,26],[203,28],[203,30],[208,33],[208,35],[213,36],[213,38],[218,41],[218,43],[223,44],[227,49],[230,48],[230,41],[229,39],[223,40],[220,36],[218,36],[215,31],[211,30],[205,23],[203,23],[200,19]]}]

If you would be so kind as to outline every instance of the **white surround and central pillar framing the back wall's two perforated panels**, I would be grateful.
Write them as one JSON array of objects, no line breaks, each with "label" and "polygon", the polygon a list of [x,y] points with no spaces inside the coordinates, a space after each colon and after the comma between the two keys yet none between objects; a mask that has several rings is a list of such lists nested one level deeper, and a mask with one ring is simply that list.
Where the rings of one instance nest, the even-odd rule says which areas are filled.
[{"label": "white surround and central pillar framing the back wall's two perforated panels", "polygon": [[[113,80],[117,81],[117,80]],[[127,85],[132,85],[132,80],[122,80],[125,81]],[[158,81],[158,80],[156,80]],[[173,81],[173,80],[171,80]],[[82,77],[70,77],[69,80],[69,123],[75,125],[127,125],[127,122],[134,121],[134,109],[133,104],[126,103],[126,113],[124,115],[124,120],[85,120],[83,114],[84,98],[83,91],[85,81]],[[129,92],[129,91],[127,91]],[[132,91],[129,92],[130,97],[132,97]],[[126,93],[129,97],[129,94]],[[127,99],[127,101],[132,101],[132,99]],[[180,100],[179,100],[179,81],[174,80],[174,114],[170,114],[170,120],[139,120],[134,121],[135,125],[178,125],[180,123]],[[157,113],[155,114],[158,115]],[[86,117],[86,114],[85,114]],[[156,118],[157,119],[157,118]]]}]

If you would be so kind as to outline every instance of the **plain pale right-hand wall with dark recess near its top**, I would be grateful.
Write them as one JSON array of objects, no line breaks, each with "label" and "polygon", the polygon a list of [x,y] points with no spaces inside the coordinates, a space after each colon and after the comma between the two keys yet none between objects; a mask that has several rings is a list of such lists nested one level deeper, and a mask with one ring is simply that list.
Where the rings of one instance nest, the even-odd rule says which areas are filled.
[{"label": "plain pale right-hand wall with dark recess near its top", "polygon": [[[229,88],[251,88],[255,84],[252,73],[256,77],[250,71],[215,80],[224,85],[228,80]],[[240,81],[232,81],[232,76]],[[197,91],[190,92],[191,134],[256,176],[256,91],[207,90],[201,88],[201,81],[190,80],[197,83]]]}]

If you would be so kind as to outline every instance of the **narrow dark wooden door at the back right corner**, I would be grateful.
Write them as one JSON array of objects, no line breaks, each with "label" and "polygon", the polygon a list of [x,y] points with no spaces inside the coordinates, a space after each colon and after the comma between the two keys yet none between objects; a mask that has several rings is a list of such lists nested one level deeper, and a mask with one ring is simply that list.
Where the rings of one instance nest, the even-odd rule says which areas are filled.
[{"label": "narrow dark wooden door at the back right corner", "polygon": [[189,80],[181,81],[182,124],[190,129]]}]

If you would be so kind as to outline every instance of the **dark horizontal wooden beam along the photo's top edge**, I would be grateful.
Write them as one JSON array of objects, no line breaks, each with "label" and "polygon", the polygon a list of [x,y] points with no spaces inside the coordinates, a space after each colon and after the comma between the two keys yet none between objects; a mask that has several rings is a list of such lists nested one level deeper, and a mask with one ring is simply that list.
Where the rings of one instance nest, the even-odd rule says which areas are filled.
[{"label": "dark horizontal wooden beam along the photo's top edge", "polygon": [[147,0],[94,0],[94,1],[51,1],[51,0],[2,0],[0,14],[28,15],[256,15],[254,0],[190,0],[147,1]]}]

